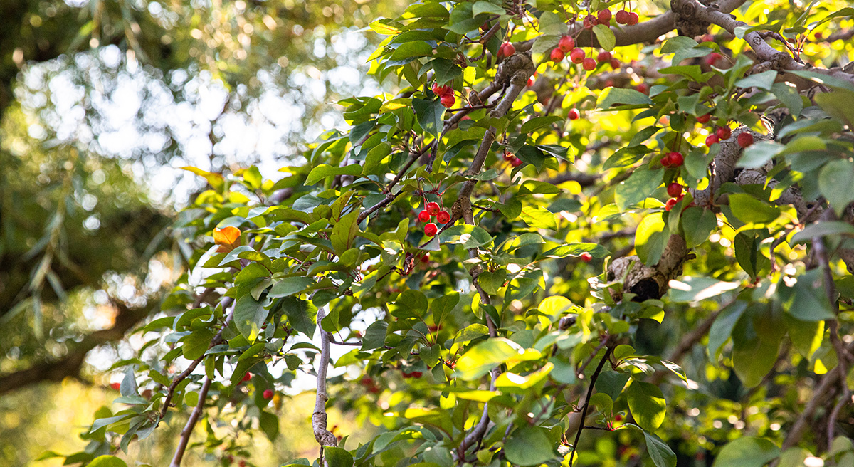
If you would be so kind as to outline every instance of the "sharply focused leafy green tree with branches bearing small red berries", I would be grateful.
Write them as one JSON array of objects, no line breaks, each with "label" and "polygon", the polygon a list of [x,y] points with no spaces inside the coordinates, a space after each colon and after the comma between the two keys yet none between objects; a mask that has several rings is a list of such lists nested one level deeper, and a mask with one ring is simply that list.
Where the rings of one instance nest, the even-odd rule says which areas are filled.
[{"label": "sharply focused leafy green tree with branches bearing small red berries", "polygon": [[[317,376],[294,464],[850,464],[851,8],[582,26],[609,6],[412,4],[370,26],[395,93],[340,100],[284,177],[184,167],[186,269],[69,459],[193,412],[179,444],[237,464]],[[567,35],[616,63],[558,60]]]}]

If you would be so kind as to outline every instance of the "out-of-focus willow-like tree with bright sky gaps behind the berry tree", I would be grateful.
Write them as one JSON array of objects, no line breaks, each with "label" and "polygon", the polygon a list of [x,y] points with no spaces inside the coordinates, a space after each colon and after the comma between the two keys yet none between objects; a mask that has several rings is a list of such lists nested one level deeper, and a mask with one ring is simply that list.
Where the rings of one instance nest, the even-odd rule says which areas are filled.
[{"label": "out-of-focus willow-like tree with bright sky gaps behind the berry tree", "polygon": [[[117,342],[191,254],[169,226],[198,182],[176,168],[269,177],[342,126],[332,102],[381,92],[368,20],[405,6],[0,0],[0,465],[79,449],[68,434],[114,398]],[[176,427],[132,449],[166,464]],[[247,446],[313,449],[291,433]]]}]

